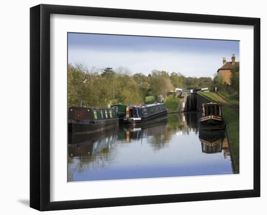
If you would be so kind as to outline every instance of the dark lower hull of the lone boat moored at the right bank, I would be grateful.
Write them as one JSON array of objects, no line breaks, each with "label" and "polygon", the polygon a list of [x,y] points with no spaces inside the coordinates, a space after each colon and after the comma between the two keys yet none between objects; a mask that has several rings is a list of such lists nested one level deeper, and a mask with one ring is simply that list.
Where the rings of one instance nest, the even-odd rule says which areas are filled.
[{"label": "dark lower hull of the lone boat moored at the right bank", "polygon": [[225,128],[225,121],[223,117],[205,116],[199,119],[200,130],[216,131]]}]

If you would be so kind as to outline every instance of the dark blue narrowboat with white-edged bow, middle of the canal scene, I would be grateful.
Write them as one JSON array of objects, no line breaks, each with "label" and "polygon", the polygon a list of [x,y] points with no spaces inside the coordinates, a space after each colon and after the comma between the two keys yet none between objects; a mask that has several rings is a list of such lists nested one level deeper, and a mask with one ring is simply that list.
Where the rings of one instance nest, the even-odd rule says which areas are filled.
[{"label": "dark blue narrowboat with white-edged bow, middle of the canal scene", "polygon": [[124,123],[147,123],[162,120],[167,117],[167,109],[164,103],[156,102],[147,105],[126,107]]}]

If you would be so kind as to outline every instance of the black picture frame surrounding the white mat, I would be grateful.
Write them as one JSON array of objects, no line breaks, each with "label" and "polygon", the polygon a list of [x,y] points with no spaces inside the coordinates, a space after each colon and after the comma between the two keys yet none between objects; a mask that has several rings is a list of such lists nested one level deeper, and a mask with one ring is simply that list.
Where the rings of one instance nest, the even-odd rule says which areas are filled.
[{"label": "black picture frame surrounding the white mat", "polygon": [[[83,15],[253,26],[253,189],[50,201],[50,15]],[[260,197],[260,18],[40,4],[30,9],[30,207],[40,211]]]}]

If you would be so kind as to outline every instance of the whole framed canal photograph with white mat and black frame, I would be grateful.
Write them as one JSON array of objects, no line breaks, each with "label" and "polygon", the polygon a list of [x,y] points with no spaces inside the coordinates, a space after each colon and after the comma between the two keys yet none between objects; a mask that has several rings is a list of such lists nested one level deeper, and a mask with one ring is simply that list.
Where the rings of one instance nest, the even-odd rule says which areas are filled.
[{"label": "whole framed canal photograph with white mat and black frame", "polygon": [[30,206],[260,196],[260,19],[30,10]]}]

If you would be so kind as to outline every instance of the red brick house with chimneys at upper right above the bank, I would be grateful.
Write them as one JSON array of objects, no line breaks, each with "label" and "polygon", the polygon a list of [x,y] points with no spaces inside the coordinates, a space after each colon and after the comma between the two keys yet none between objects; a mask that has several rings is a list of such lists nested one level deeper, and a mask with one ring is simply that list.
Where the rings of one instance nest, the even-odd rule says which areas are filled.
[{"label": "red brick house with chimneys at upper right above the bank", "polygon": [[226,62],[225,57],[222,59],[222,66],[217,70],[219,80],[223,80],[228,84],[231,83],[231,72],[235,66],[239,66],[239,62],[235,62],[235,56],[232,54],[232,61]]}]

